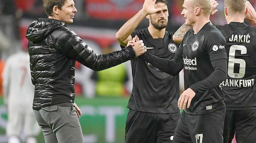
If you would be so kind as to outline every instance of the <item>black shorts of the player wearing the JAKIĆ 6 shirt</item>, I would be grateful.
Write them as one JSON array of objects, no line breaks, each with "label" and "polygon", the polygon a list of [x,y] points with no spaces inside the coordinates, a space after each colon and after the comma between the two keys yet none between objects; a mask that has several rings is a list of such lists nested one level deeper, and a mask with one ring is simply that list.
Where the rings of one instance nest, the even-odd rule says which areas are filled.
[{"label": "black shorts of the player wearing the JAKI\u0106 6 shirt", "polygon": [[226,111],[224,143],[231,143],[234,135],[239,143],[256,142],[256,110]]}]

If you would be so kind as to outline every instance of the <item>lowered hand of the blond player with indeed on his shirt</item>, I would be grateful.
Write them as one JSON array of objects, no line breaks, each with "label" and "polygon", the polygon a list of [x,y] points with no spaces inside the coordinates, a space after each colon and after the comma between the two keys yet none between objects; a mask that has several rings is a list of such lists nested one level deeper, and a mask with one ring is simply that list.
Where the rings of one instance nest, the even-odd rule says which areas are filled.
[{"label": "lowered hand of the blond player with indeed on his shirt", "polygon": [[186,109],[186,105],[187,108],[189,108],[191,100],[194,98],[195,96],[195,92],[188,88],[187,90],[185,90],[179,97],[178,100],[178,107],[179,109]]}]

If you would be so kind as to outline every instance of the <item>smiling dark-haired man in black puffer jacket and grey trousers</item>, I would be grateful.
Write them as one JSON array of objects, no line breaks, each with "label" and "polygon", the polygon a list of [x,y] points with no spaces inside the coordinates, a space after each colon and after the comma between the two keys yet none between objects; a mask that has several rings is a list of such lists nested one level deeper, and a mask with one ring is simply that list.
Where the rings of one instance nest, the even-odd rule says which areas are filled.
[{"label": "smiling dark-haired man in black puffer jacket and grey trousers", "polygon": [[[33,109],[45,143],[82,143],[74,103],[75,62],[93,70],[119,65],[146,52],[142,41],[120,51],[97,55],[66,27],[77,12],[73,0],[44,0],[48,18],[38,18],[27,30],[31,80],[35,85]],[[135,39],[134,39],[135,40]]]}]

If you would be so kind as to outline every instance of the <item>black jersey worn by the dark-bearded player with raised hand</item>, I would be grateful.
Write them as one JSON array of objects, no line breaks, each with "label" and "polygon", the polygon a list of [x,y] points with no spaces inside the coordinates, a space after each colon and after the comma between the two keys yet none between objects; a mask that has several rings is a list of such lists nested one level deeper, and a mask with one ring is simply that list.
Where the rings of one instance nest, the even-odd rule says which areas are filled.
[{"label": "black jersey worn by the dark-bearded player with raised hand", "polygon": [[[147,52],[161,58],[172,59],[178,44],[172,33],[165,32],[164,38],[153,39],[148,29],[135,30],[132,37],[143,40]],[[128,108],[151,113],[175,113],[178,110],[179,76],[172,76],[153,67],[141,58],[131,60],[133,89]]]}]

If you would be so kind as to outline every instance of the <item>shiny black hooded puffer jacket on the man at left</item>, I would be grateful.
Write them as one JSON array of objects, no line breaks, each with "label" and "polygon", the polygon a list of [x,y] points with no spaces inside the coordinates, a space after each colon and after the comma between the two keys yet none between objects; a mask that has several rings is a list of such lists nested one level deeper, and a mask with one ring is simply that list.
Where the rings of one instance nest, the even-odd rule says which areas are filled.
[{"label": "shiny black hooded puffer jacket on the man at left", "polygon": [[[26,33],[29,39],[33,109],[74,102],[75,61],[99,71],[135,57],[132,47],[97,55],[62,21],[38,18]],[[87,75],[85,75],[87,76]]]}]

